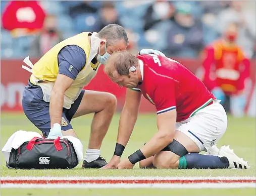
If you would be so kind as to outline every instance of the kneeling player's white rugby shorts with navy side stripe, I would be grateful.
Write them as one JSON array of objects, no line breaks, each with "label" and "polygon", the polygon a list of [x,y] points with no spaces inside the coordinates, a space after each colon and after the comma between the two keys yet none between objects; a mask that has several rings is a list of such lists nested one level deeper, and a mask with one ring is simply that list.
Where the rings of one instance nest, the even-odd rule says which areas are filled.
[{"label": "kneeling player's white rugby shorts with navy side stripe", "polygon": [[199,110],[194,116],[176,123],[176,130],[186,134],[199,148],[207,151],[226,132],[228,119],[226,111],[219,100]]}]

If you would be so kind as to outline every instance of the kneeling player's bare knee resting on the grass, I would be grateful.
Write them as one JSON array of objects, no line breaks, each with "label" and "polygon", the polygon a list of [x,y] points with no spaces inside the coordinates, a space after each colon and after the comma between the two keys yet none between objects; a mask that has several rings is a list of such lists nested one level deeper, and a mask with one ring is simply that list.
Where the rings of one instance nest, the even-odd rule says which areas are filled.
[{"label": "kneeling player's bare knee resting on the grass", "polygon": [[161,151],[153,158],[153,166],[158,169],[177,169],[180,156],[171,151]]}]

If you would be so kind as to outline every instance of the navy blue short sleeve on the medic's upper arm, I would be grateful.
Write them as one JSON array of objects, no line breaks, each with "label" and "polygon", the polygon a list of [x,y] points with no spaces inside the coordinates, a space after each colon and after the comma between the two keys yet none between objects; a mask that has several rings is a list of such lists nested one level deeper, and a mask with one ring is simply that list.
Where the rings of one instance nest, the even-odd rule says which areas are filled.
[{"label": "navy blue short sleeve on the medic's upper arm", "polygon": [[58,54],[59,73],[76,79],[85,62],[86,55],[82,48],[77,45],[65,46]]}]

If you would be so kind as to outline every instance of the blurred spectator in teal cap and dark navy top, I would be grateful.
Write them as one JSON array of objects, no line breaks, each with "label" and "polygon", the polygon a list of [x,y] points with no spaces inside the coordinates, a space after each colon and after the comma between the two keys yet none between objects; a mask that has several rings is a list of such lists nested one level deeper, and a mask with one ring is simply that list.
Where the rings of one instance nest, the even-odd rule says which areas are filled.
[{"label": "blurred spectator in teal cap and dark navy top", "polygon": [[197,57],[203,45],[202,24],[192,15],[191,5],[179,3],[175,8],[165,53],[176,57]]}]

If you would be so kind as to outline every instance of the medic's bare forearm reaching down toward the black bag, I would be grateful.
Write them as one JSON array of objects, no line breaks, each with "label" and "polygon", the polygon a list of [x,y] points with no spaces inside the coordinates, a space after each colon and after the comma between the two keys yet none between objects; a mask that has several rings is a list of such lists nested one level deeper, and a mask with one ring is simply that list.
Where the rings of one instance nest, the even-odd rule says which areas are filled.
[{"label": "medic's bare forearm reaching down toward the black bag", "polygon": [[61,117],[64,102],[64,93],[71,86],[73,79],[64,75],[58,74],[52,92],[50,93],[50,126],[58,123],[61,125]]}]

